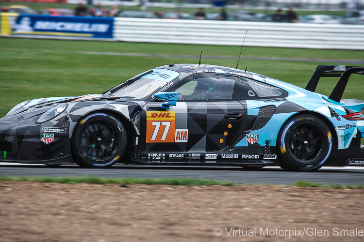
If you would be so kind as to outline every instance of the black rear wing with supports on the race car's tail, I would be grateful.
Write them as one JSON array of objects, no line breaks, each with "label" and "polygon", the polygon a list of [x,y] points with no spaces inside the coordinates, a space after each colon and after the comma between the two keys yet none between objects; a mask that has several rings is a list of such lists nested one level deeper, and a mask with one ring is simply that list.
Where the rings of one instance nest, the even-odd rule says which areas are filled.
[{"label": "black rear wing with supports on the race car's tail", "polygon": [[364,75],[364,67],[345,66],[345,65],[319,65],[316,67],[314,74],[307,83],[307,91],[315,91],[320,77],[340,77],[335,88],[332,90],[329,98],[332,101],[340,103],[344,90],[351,74]]}]

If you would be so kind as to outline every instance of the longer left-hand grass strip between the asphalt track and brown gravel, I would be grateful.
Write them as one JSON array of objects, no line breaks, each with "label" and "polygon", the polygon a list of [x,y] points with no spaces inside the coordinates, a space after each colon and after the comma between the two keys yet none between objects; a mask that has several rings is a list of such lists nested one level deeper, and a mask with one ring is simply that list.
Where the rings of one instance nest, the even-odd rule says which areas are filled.
[{"label": "longer left-hand grass strip between the asphalt track and brown gravel", "polygon": [[99,178],[99,177],[9,177],[0,176],[0,181],[31,181],[31,182],[55,182],[55,183],[90,183],[90,184],[146,184],[146,185],[172,185],[172,186],[196,186],[196,185],[222,185],[233,186],[231,181],[215,181],[206,179],[182,179],[182,178]]}]

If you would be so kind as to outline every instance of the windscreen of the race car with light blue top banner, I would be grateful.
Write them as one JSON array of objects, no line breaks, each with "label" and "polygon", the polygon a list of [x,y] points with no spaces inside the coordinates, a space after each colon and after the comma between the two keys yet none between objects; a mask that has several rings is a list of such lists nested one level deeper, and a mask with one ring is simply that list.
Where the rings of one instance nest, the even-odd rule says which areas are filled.
[{"label": "windscreen of the race car with light blue top banner", "polygon": [[145,98],[171,82],[180,73],[166,69],[152,69],[150,73],[121,85],[112,94],[135,99]]}]

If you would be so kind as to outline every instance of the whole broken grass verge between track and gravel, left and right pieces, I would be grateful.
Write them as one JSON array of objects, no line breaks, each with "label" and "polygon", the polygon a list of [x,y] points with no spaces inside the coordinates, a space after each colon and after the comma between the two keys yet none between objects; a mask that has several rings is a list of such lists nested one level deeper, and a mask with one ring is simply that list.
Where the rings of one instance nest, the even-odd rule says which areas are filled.
[{"label": "whole broken grass verge between track and gravel, left and right pieces", "polygon": [[[16,181],[16,182],[53,182],[53,183],[65,183],[65,184],[146,184],[146,185],[171,185],[171,186],[242,186],[247,184],[233,183],[231,181],[215,181],[207,179],[183,179],[183,178],[154,178],[154,179],[141,179],[141,178],[99,178],[99,177],[10,177],[0,176],[0,181]],[[334,189],[363,189],[364,185],[326,185],[317,184],[310,181],[298,181],[293,184],[298,187],[320,187],[320,188],[334,188]]]}]

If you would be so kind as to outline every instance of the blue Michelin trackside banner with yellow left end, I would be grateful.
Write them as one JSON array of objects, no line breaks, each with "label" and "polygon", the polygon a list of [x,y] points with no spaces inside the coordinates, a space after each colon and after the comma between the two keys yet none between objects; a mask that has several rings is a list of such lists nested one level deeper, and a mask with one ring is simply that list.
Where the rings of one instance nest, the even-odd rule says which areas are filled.
[{"label": "blue Michelin trackside banner with yellow left end", "polygon": [[6,15],[1,16],[1,28],[11,29],[10,35],[113,38],[114,18]]}]

